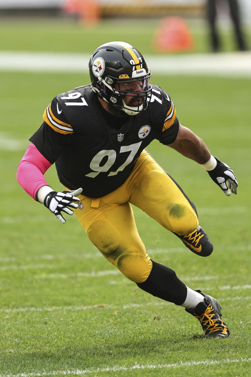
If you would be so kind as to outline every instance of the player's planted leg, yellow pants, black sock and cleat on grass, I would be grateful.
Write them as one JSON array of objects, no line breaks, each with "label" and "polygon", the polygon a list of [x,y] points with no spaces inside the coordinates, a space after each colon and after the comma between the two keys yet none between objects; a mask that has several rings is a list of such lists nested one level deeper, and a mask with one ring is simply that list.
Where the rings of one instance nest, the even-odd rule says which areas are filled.
[{"label": "player's planted leg, yellow pants, black sock and cleat on grass", "polygon": [[186,308],[199,319],[206,336],[229,336],[215,299],[191,290],[175,271],[150,259],[138,234],[124,186],[102,198],[79,195],[79,199],[75,215],[90,241],[109,262],[142,290]]}]

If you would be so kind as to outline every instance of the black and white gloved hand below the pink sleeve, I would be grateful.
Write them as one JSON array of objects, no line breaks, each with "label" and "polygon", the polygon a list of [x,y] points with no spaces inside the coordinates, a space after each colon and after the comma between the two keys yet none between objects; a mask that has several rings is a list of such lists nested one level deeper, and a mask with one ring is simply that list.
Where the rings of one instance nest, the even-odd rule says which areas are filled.
[{"label": "black and white gloved hand below the pink sleeve", "polygon": [[73,215],[73,210],[68,207],[78,208],[78,204],[74,202],[79,202],[80,199],[76,198],[75,195],[79,195],[81,192],[81,188],[62,192],[51,191],[44,198],[44,205],[64,224],[66,221],[62,217],[61,211]]}]

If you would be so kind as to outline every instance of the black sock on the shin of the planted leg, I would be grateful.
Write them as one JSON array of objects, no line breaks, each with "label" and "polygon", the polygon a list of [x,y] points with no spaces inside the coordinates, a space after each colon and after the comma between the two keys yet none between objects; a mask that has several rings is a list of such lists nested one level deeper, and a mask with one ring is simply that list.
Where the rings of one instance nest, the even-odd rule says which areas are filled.
[{"label": "black sock on the shin of the planted leg", "polygon": [[171,268],[152,261],[152,270],[143,283],[136,283],[143,291],[160,299],[181,305],[187,297],[186,285]]}]

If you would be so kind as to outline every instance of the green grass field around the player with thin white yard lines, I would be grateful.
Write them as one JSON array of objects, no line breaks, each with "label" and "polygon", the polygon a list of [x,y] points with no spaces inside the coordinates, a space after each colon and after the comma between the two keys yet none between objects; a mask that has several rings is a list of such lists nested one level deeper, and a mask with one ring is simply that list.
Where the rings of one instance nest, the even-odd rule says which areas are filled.
[{"label": "green grass field around the player with thin white yard lines", "polygon": [[[62,51],[59,35],[67,34],[67,25],[57,26],[60,49],[52,28],[20,25],[20,43],[28,29],[32,40],[44,40],[36,48],[32,41],[15,44],[17,25],[6,23],[0,29],[8,31],[9,43],[2,40],[1,49]],[[119,39],[111,31],[105,38]],[[142,43],[149,51],[145,35]],[[84,50],[73,44],[66,51]],[[225,196],[198,164],[154,142],[149,151],[195,202],[214,252],[196,256],[134,207],[138,231],[152,259],[173,268],[190,288],[217,297],[230,338],[205,339],[184,308],[141,291],[103,259],[76,218],[62,225],[18,185],[18,162],[44,109],[56,94],[88,83],[87,75],[0,72],[0,377],[251,375],[251,79],[151,80],[169,92],[181,123],[233,168],[239,191]],[[54,167],[46,179],[62,189]]]}]

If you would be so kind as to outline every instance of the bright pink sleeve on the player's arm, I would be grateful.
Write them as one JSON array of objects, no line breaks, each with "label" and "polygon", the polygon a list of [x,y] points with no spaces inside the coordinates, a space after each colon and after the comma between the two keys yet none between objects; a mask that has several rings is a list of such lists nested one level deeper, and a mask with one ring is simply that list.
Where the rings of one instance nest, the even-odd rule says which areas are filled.
[{"label": "bright pink sleeve on the player's arm", "polygon": [[33,199],[40,187],[48,185],[44,173],[52,164],[39,152],[34,144],[29,144],[17,169],[17,181]]}]

